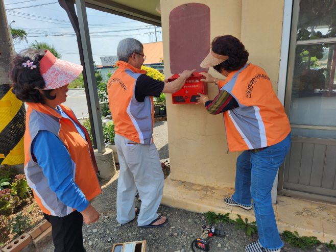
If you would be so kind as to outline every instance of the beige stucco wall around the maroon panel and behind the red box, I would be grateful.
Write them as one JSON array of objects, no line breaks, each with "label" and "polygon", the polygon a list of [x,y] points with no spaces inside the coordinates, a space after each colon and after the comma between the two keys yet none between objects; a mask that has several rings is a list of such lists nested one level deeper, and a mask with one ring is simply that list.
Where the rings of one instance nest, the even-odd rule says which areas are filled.
[{"label": "beige stucco wall around the maroon panel and behind the red box", "polygon": [[[269,1],[272,4],[266,2],[208,0],[193,3],[205,4],[210,8],[211,40],[226,34],[242,39],[250,53],[249,62],[263,67],[273,84],[277,84],[283,1]],[[161,0],[165,78],[171,76],[170,64],[167,64],[170,62],[169,15],[175,7],[187,3]],[[269,14],[265,15],[265,12]],[[195,39],[197,36],[202,34],[195,35]],[[223,78],[212,68],[209,73]],[[208,96],[214,98],[217,93],[218,87],[209,84]],[[202,105],[173,105],[170,94],[166,95],[166,104],[171,179],[233,188],[235,163],[240,153],[228,153],[223,115],[210,115]]]}]

